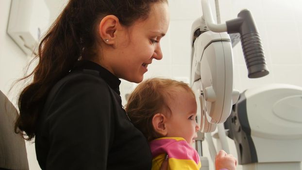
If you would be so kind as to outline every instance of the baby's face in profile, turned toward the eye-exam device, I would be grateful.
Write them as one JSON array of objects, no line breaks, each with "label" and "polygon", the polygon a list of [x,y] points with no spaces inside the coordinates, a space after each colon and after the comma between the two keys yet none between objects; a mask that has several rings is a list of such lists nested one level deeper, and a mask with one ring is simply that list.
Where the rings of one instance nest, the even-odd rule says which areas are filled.
[{"label": "baby's face in profile, turned toward the eye-exam device", "polygon": [[195,142],[200,127],[196,122],[197,104],[194,95],[180,88],[169,101],[169,107],[172,113],[167,119],[167,137],[183,137],[189,144]]}]

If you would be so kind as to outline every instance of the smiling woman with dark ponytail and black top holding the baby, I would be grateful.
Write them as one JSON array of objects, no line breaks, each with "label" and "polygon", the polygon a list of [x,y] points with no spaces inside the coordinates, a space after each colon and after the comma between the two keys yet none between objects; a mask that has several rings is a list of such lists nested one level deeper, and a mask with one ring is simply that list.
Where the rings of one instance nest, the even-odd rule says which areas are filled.
[{"label": "smiling woman with dark ponytail and black top holding the baby", "polygon": [[139,83],[162,59],[167,0],[70,0],[39,45],[15,130],[35,138],[44,170],[148,170],[147,140],[121,105],[118,78]]}]

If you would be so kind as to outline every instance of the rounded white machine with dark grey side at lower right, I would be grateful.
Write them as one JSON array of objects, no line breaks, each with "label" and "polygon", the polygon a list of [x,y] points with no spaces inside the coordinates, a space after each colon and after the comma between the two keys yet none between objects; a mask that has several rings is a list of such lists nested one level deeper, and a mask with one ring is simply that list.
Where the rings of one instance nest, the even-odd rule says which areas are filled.
[{"label": "rounded white machine with dark grey side at lower right", "polygon": [[302,87],[248,89],[224,124],[243,170],[302,169]]}]

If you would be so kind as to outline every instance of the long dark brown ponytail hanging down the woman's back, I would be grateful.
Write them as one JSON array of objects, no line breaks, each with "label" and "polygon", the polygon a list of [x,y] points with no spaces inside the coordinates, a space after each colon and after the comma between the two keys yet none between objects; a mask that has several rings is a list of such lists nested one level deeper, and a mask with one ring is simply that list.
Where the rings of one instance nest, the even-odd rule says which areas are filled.
[{"label": "long dark brown ponytail hanging down the woman's back", "polygon": [[21,80],[34,75],[18,98],[20,115],[15,132],[24,131],[25,139],[34,138],[37,118],[42,111],[52,86],[74,66],[81,57],[81,36],[70,20],[68,7],[60,14],[38,47],[39,62],[34,70]]}]

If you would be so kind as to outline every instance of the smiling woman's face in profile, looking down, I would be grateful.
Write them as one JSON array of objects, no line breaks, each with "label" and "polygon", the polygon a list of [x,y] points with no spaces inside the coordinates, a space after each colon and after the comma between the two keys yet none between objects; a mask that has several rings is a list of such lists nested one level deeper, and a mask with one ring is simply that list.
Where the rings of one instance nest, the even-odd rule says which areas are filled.
[{"label": "smiling woman's face in profile, looking down", "polygon": [[152,59],[163,58],[161,38],[169,24],[168,4],[154,3],[147,19],[139,19],[117,34],[117,43],[106,57],[107,69],[118,78],[139,83]]}]

